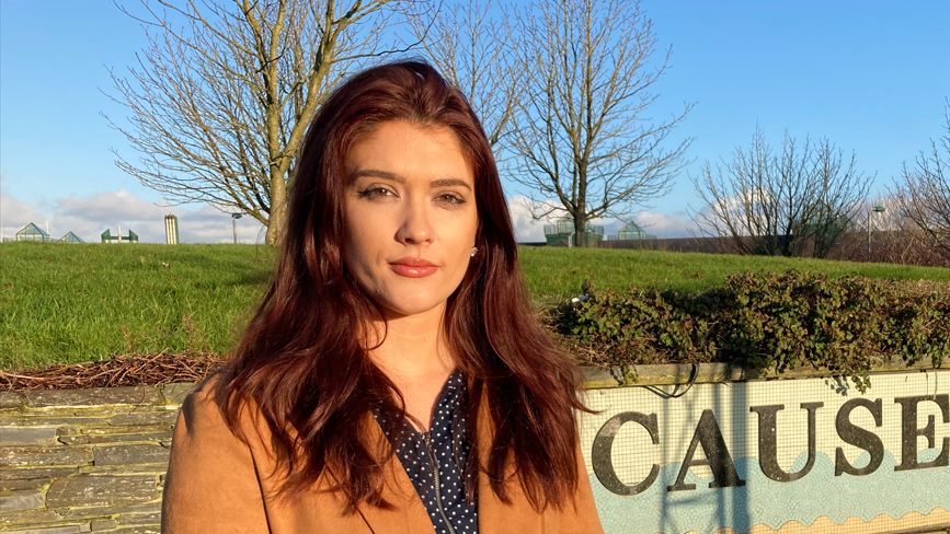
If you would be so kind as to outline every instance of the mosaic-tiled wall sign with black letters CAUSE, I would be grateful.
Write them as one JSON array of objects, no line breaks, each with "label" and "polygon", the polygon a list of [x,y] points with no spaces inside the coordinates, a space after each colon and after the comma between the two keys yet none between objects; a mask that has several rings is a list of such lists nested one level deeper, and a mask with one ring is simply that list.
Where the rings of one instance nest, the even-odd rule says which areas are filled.
[{"label": "mosaic-tiled wall sign with black letters CAUSE", "polygon": [[[608,533],[950,525],[950,371],[591,390],[582,444]],[[672,388],[672,386],[671,386]],[[682,387],[680,387],[682,390]]]}]

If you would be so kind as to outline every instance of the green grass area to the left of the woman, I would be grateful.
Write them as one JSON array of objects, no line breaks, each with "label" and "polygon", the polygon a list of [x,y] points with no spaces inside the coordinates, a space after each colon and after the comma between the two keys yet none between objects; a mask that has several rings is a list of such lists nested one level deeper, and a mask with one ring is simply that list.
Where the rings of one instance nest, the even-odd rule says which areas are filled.
[{"label": "green grass area to the left of the woman", "polygon": [[0,369],[225,353],[274,256],[241,245],[0,245]]}]

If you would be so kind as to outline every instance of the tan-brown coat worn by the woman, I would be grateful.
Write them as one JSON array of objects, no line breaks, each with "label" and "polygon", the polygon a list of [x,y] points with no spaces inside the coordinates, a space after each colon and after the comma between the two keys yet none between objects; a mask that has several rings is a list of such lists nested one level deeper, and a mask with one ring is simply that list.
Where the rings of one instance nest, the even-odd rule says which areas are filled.
[{"label": "tan-brown coat worn by the woman", "polygon": [[[213,378],[184,400],[172,440],[171,461],[164,483],[162,533],[345,533],[410,534],[433,533],[428,514],[415,488],[392,455],[386,465],[384,498],[396,506],[386,511],[360,506],[356,513],[343,515],[337,492],[312,491],[295,504],[274,495],[278,479],[271,477],[275,465],[267,426],[244,410],[242,428],[250,444],[236,438],[225,423],[214,395],[218,379]],[[369,416],[369,419],[373,419]],[[370,425],[377,439],[382,431]],[[255,432],[256,430],[257,432]],[[482,436],[485,432],[481,432]],[[479,446],[484,446],[481,443]],[[512,506],[501,502],[479,477],[479,532],[481,534],[581,534],[603,533],[584,463],[580,458],[576,507],[536,512],[511,485]],[[320,483],[318,481],[318,488]]]}]

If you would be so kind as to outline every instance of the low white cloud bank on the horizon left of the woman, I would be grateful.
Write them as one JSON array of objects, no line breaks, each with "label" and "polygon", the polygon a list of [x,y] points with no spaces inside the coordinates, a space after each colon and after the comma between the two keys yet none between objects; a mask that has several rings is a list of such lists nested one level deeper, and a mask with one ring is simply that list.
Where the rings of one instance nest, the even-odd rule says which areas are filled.
[{"label": "low white cloud bank on the horizon left of the woman", "polygon": [[[115,193],[96,193],[87,197],[70,195],[55,199],[50,207],[37,207],[0,191],[0,222],[2,237],[11,239],[21,228],[33,222],[46,230],[54,239],[72,232],[87,242],[98,242],[105,229],[113,233],[122,227],[123,234],[131,230],[142,243],[164,243],[164,216],[179,218],[179,241],[182,243],[231,243],[231,217],[210,206],[185,209],[181,206],[160,207],[119,189]],[[243,217],[238,220],[238,242],[263,241],[263,225]]]}]

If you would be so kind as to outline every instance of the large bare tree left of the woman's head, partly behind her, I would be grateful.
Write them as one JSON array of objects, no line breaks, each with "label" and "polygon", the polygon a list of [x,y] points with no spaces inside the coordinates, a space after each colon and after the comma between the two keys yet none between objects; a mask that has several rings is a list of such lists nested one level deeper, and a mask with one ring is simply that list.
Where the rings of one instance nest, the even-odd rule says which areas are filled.
[{"label": "large bare tree left of the woman's head, partly behind her", "polygon": [[[148,46],[112,72],[110,119],[138,152],[119,169],[173,202],[208,202],[267,227],[276,245],[308,123],[354,61],[391,51],[397,0],[141,0]],[[389,5],[388,5],[389,4]],[[108,119],[108,117],[106,117]]]}]

